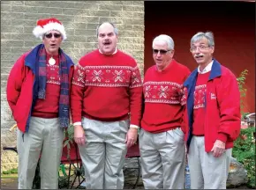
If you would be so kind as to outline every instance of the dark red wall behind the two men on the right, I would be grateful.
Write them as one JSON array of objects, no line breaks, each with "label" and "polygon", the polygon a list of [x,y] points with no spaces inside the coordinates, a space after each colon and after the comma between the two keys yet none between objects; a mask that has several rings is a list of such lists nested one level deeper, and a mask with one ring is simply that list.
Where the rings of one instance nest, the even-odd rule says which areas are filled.
[{"label": "dark red wall behind the two men on the right", "polygon": [[255,112],[255,4],[248,2],[145,2],[145,71],[154,64],[152,40],[168,34],[175,43],[175,56],[195,69],[189,51],[192,35],[215,34],[215,58],[238,77],[248,69],[245,112]]}]

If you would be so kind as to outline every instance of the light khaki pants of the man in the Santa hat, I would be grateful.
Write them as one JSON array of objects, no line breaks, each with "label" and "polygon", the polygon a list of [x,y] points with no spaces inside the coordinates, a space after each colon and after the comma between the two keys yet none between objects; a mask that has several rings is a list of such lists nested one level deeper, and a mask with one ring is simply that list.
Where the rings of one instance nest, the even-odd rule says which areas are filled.
[{"label": "light khaki pants of the man in the Santa hat", "polygon": [[64,130],[58,118],[31,117],[29,130],[17,131],[19,189],[31,189],[40,158],[41,189],[58,188],[58,168],[62,156]]}]

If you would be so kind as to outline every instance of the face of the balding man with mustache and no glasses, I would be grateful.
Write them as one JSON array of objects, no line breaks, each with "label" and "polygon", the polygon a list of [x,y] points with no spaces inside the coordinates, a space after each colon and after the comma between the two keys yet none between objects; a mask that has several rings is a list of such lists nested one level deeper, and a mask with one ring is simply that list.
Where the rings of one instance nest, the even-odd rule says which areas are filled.
[{"label": "face of the balding man with mustache and no glasses", "polygon": [[117,35],[114,27],[104,23],[98,29],[98,47],[104,55],[111,55],[117,48]]}]

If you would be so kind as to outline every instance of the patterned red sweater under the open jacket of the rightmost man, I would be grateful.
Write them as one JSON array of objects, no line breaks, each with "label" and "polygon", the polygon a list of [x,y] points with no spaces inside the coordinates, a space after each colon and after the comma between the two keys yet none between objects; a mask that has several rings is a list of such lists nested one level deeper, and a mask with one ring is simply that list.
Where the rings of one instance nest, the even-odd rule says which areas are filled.
[{"label": "patterned red sweater under the open jacket of the rightmost man", "polygon": [[210,72],[198,74],[194,91],[193,125],[192,135],[205,135],[204,122],[206,116],[206,91],[207,80]]}]

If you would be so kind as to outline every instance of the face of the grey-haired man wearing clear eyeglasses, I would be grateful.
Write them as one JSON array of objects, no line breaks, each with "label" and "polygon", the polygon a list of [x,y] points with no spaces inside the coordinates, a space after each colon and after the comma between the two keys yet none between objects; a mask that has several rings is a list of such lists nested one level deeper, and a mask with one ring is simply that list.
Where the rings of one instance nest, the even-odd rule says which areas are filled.
[{"label": "face of the grey-haired man wearing clear eyeglasses", "polygon": [[208,64],[212,61],[215,47],[209,47],[208,40],[202,38],[192,44],[192,56],[198,64]]}]

